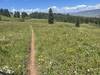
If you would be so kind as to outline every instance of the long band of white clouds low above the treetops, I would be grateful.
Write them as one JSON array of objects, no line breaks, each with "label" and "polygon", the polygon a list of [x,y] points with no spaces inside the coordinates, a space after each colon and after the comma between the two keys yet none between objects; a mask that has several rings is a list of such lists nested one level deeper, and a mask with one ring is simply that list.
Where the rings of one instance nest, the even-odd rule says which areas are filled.
[{"label": "long band of white clouds low above the treetops", "polygon": [[52,8],[53,11],[55,13],[69,13],[69,12],[79,12],[79,11],[85,11],[85,10],[92,10],[92,9],[100,9],[100,4],[96,4],[96,5],[76,5],[76,6],[65,6],[65,7],[57,7],[57,6],[51,6],[51,7],[48,7],[48,8],[45,8],[45,9],[40,9],[40,8],[35,8],[35,9],[11,9],[12,12],[14,11],[25,11],[25,12],[28,12],[28,13],[31,13],[31,12],[48,12],[48,9],[49,8]]}]

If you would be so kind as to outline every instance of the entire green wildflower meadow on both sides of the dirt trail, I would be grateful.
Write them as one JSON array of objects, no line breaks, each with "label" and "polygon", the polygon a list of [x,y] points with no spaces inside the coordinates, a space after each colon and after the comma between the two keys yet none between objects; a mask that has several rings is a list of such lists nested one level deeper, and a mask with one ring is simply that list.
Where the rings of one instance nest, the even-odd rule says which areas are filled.
[{"label": "entire green wildflower meadow on both sides of the dirt trail", "polygon": [[46,20],[0,22],[0,68],[25,73],[30,26],[39,75],[100,75],[100,28]]}]

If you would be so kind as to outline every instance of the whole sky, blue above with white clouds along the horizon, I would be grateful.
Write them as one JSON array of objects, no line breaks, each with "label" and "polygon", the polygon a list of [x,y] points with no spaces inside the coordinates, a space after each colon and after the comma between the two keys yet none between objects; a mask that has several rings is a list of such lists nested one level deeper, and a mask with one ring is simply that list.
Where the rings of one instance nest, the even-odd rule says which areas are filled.
[{"label": "whole sky, blue above with white clouds along the horizon", "polygon": [[100,9],[100,0],[0,0],[0,8],[27,12],[47,12],[52,8],[54,12],[68,13]]}]

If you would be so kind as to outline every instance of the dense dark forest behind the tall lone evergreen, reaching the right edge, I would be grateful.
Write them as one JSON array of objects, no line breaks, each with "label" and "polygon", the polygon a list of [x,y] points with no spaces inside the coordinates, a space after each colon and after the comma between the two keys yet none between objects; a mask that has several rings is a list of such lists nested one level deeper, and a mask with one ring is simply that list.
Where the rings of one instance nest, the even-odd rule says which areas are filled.
[{"label": "dense dark forest behind the tall lone evergreen, reaching the right edge", "polygon": [[[76,23],[77,20],[80,21],[80,23],[95,23],[100,24],[100,18],[96,17],[83,17],[83,16],[73,16],[70,14],[61,14],[61,13],[53,13],[54,19],[59,22],[70,22],[70,23]],[[42,13],[42,12],[34,12],[29,14],[30,18],[36,18],[36,19],[48,19],[48,13]]]}]

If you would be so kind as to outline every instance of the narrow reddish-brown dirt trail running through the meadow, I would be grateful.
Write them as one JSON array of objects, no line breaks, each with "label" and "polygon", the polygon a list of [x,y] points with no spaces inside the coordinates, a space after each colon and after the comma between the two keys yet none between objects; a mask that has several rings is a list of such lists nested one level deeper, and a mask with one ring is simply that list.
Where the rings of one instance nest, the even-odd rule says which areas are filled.
[{"label": "narrow reddish-brown dirt trail running through the meadow", "polygon": [[32,30],[32,38],[31,38],[31,48],[29,54],[28,61],[28,75],[36,75],[36,65],[35,65],[35,38],[34,32]]}]

